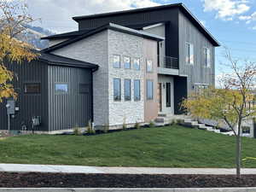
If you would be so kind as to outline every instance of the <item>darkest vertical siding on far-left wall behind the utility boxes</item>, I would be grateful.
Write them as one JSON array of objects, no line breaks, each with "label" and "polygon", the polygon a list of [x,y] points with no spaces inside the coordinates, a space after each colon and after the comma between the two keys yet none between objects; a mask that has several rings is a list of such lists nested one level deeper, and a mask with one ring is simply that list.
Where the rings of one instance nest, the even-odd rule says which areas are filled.
[{"label": "darkest vertical siding on far-left wall behind the utility boxes", "polygon": [[[15,73],[13,81],[15,91],[18,93],[16,107],[20,111],[11,119],[11,130],[20,130],[24,122],[29,130],[32,130],[32,116],[40,116],[42,125],[38,131],[48,131],[48,89],[47,89],[47,63],[32,61],[22,64],[7,64],[10,71]],[[24,94],[25,83],[41,83],[41,94]],[[0,129],[7,129],[6,101],[0,103]]]}]

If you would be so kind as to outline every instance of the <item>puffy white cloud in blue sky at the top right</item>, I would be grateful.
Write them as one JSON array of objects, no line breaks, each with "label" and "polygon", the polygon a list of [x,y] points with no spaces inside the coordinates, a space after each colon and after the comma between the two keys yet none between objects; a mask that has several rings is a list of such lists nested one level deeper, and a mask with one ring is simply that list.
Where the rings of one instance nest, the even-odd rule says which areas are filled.
[{"label": "puffy white cloud in blue sky at the top right", "polygon": [[233,20],[237,15],[246,13],[250,7],[246,0],[201,0],[204,11],[216,11],[216,18]]}]

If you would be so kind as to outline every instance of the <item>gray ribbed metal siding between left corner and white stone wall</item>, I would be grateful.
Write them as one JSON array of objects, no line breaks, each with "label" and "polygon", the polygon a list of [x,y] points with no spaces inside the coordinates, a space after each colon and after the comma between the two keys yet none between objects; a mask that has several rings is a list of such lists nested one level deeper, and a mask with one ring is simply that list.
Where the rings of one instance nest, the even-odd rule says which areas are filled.
[{"label": "gray ribbed metal siding between left corner and white stone wall", "polygon": [[[49,66],[49,131],[85,126],[91,119],[91,72],[75,67]],[[55,83],[68,84],[67,95],[55,94]],[[79,84],[89,84],[87,94],[79,93]]]}]

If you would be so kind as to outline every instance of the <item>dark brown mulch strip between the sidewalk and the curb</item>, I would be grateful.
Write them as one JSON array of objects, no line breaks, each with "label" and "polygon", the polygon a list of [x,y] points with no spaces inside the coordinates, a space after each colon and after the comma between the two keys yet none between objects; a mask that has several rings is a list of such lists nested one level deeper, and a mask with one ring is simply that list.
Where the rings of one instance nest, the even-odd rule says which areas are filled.
[{"label": "dark brown mulch strip between the sidewalk and the curb", "polygon": [[256,175],[130,175],[0,172],[0,188],[256,187]]}]

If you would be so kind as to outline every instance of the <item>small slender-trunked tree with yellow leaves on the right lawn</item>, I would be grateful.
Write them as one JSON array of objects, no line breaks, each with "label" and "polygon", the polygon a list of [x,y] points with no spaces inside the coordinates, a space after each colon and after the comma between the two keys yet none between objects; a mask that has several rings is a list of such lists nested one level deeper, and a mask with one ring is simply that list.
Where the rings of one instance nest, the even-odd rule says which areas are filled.
[{"label": "small slender-trunked tree with yellow leaves on the right lawn", "polygon": [[254,99],[256,63],[234,59],[225,52],[229,73],[220,79],[220,89],[209,88],[192,94],[183,101],[183,108],[196,118],[223,120],[236,136],[236,177],[241,177],[241,123],[256,115],[255,106],[247,108]]}]

